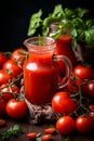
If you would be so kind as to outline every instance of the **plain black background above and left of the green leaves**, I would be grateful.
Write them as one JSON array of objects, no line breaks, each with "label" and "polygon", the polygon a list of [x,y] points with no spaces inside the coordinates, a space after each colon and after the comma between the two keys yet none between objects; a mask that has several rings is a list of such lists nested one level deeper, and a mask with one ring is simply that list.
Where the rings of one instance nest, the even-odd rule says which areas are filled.
[{"label": "plain black background above and left of the green leaves", "polygon": [[90,10],[94,13],[91,0],[3,0],[0,1],[0,50],[12,51],[23,47],[23,41],[27,38],[29,18],[32,13],[40,9],[43,16],[53,12],[56,4],[63,8],[75,9],[77,7]]}]

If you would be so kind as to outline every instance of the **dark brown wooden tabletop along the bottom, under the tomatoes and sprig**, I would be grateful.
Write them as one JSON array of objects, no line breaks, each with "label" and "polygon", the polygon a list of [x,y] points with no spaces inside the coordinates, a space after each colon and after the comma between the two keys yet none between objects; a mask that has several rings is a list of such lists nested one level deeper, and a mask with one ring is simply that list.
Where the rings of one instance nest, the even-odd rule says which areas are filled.
[{"label": "dark brown wooden tabletop along the bottom, under the tomatoes and sprig", "polygon": [[[31,125],[26,118],[23,120],[14,120],[14,119],[6,118],[6,124],[5,126],[0,127],[0,132],[5,131],[6,129],[9,129],[15,124],[21,125],[21,127],[23,128],[23,133],[17,138],[11,138],[9,141],[29,141],[27,139],[28,132],[36,131],[37,133],[39,132],[44,133],[45,128],[55,126],[55,124],[53,123],[44,123],[42,125]],[[94,132],[91,132],[90,134],[80,134],[75,132],[67,137],[69,138],[69,141],[94,141]],[[67,137],[56,132],[53,134],[53,141],[65,141]],[[0,139],[0,141],[3,140]]]}]

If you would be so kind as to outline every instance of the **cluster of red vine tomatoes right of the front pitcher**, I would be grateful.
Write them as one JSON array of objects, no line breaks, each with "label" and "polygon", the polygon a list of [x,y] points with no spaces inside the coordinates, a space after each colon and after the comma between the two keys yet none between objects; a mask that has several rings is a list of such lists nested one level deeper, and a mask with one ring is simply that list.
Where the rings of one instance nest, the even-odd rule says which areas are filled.
[{"label": "cluster of red vine tomatoes right of the front pitcher", "polygon": [[65,90],[52,98],[57,113],[56,129],[64,134],[73,131],[89,133],[94,129],[94,69],[78,64]]}]

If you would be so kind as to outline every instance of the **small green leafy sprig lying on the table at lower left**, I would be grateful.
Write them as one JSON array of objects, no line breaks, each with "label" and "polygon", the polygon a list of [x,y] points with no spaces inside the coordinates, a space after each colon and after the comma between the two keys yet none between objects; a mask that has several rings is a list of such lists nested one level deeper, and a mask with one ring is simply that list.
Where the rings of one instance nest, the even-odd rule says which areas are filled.
[{"label": "small green leafy sprig lying on the table at lower left", "polygon": [[22,133],[22,128],[19,125],[14,125],[10,127],[6,131],[0,134],[0,139],[10,139],[13,137],[18,137]]}]

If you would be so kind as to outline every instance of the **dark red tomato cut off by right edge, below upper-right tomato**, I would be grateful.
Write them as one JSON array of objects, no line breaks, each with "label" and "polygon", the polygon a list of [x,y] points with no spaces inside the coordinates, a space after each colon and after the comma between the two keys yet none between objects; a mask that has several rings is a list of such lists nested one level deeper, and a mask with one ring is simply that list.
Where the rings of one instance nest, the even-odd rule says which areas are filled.
[{"label": "dark red tomato cut off by right edge, below upper-right tomato", "polygon": [[90,98],[94,99],[94,80],[90,80],[86,85],[82,87],[83,92],[85,92]]}]

